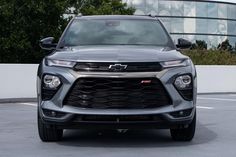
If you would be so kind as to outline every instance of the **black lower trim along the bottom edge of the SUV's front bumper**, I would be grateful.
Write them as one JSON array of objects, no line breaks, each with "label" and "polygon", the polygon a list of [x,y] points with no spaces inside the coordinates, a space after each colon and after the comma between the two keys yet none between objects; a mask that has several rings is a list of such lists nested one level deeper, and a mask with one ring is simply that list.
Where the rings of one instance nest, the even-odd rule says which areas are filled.
[{"label": "black lower trim along the bottom edge of the SUV's front bumper", "polygon": [[[179,128],[184,125],[188,125],[192,122],[194,116],[184,117],[181,120],[171,121],[166,116],[162,114],[158,115],[149,115],[152,117],[157,117],[157,119],[153,118],[152,120],[147,121],[83,121],[79,120],[77,116],[86,116],[86,115],[72,115],[65,122],[60,121],[51,121],[50,119],[43,118],[43,122],[45,124],[53,124],[57,125],[58,128],[62,129],[169,129],[169,128]],[[138,115],[142,116],[142,115]],[[148,116],[148,115],[146,115]],[[101,117],[101,116],[100,116]],[[113,116],[110,116],[111,118]],[[116,116],[117,117],[117,116]],[[126,116],[127,117],[127,116]],[[76,120],[77,119],[77,120]]]}]

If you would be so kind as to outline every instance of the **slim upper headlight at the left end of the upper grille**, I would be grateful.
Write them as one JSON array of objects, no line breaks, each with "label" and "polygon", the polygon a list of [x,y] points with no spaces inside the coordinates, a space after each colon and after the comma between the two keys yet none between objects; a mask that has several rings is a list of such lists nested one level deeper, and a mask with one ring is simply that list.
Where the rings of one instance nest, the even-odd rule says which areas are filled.
[{"label": "slim upper headlight at the left end of the upper grille", "polygon": [[64,60],[54,60],[54,59],[46,59],[47,66],[59,66],[59,67],[74,67],[76,62],[72,61],[64,61]]}]

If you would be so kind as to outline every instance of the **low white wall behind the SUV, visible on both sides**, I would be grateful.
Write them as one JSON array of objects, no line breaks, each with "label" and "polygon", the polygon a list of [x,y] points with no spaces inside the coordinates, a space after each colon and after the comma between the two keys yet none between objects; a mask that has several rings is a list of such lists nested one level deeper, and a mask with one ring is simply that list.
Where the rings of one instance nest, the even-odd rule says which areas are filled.
[{"label": "low white wall behind the SUV, visible on both sides", "polygon": [[[37,64],[0,64],[0,99],[36,97]],[[236,66],[197,66],[198,92],[235,92]]]}]

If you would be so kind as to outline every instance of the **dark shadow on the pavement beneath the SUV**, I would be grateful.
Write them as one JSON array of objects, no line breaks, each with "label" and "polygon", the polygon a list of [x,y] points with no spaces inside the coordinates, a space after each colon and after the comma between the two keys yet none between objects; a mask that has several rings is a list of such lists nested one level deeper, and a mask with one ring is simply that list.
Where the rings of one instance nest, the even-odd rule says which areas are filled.
[{"label": "dark shadow on the pavement beneath the SUV", "polygon": [[192,142],[172,141],[169,130],[66,130],[62,142],[58,144],[75,147],[172,147],[189,146],[213,141],[217,134],[207,126],[197,123],[195,138]]}]

